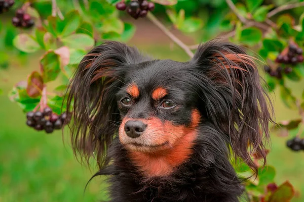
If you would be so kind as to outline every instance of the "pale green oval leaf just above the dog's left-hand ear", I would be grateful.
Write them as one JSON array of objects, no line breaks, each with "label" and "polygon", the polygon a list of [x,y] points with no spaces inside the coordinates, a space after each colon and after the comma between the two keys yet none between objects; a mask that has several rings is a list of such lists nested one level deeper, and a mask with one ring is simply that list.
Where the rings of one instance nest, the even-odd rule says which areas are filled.
[{"label": "pale green oval leaf just above the dog's left-hand ear", "polygon": [[94,45],[94,39],[87,34],[72,34],[62,39],[65,46],[69,48],[89,49]]}]

